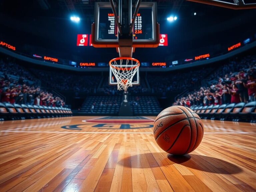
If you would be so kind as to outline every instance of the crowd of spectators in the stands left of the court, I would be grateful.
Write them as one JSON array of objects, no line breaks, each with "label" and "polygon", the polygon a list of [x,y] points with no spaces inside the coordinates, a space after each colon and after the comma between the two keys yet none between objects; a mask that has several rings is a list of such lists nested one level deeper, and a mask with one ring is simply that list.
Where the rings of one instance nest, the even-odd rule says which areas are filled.
[{"label": "crowd of spectators in the stands left of the court", "polygon": [[[0,102],[64,107],[65,102],[44,91],[28,71],[8,58],[0,60]],[[24,75],[24,76],[23,76]]]}]

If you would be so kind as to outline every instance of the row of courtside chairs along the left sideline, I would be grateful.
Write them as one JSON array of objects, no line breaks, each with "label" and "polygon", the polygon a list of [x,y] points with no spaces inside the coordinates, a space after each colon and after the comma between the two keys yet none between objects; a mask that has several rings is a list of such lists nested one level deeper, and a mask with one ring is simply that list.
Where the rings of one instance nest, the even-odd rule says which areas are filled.
[{"label": "row of courtside chairs along the left sideline", "polygon": [[69,108],[58,108],[56,113],[51,112],[50,107],[37,105],[18,105],[10,103],[0,103],[0,121],[18,120],[18,119],[34,119],[34,118],[49,118],[49,117],[67,117],[72,116],[72,111]]}]

